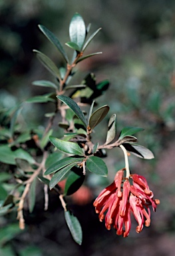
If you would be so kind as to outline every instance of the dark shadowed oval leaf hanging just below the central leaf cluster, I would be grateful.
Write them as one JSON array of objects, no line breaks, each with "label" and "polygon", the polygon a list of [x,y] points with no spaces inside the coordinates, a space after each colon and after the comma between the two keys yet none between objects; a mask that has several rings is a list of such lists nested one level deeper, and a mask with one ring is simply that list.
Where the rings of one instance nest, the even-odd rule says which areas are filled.
[{"label": "dark shadowed oval leaf hanging just below the central leaf cluster", "polygon": [[75,193],[81,187],[84,180],[85,180],[85,175],[83,175],[82,172],[80,174],[78,172],[75,173],[75,171],[72,170],[69,173],[69,176],[67,177],[64,195],[72,195],[73,193]]}]

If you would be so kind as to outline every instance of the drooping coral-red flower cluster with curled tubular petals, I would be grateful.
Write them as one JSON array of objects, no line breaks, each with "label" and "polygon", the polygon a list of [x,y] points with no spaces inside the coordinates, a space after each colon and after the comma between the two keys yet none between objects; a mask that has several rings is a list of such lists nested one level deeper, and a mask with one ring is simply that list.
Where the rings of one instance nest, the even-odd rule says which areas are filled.
[{"label": "drooping coral-red flower cluster with curled tubular petals", "polygon": [[117,235],[127,237],[131,227],[131,213],[138,223],[136,232],[140,233],[144,225],[146,227],[150,225],[149,207],[152,206],[153,211],[156,211],[160,201],[153,199],[154,195],[143,176],[130,175],[129,179],[132,181],[130,185],[129,179],[124,177],[124,170],[118,171],[114,182],[98,195],[94,207],[100,221],[105,218],[106,229],[110,230],[112,225]]}]

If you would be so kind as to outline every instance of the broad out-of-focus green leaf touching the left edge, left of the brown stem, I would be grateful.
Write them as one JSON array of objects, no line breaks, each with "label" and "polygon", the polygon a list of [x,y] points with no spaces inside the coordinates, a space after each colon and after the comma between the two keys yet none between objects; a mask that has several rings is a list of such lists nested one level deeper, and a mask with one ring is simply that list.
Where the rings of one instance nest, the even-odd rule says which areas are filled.
[{"label": "broad out-of-focus green leaf touching the left edge, left of the brown stem", "polygon": [[9,145],[0,146],[0,162],[7,163],[9,165],[16,165],[15,159],[20,158],[27,160],[29,163],[35,163],[35,160],[27,151],[23,149],[17,149],[12,151]]}]

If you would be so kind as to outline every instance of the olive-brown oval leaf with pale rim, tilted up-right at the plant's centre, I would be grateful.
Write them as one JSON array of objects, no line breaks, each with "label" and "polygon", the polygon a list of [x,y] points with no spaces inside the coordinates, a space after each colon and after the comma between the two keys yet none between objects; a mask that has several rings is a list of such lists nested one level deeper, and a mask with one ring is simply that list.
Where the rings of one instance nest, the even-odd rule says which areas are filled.
[{"label": "olive-brown oval leaf with pale rim, tilted up-right at the plant's centre", "polygon": [[100,121],[102,121],[104,117],[106,117],[108,111],[109,107],[107,105],[104,105],[103,107],[100,107],[99,109],[94,111],[94,113],[92,113],[88,124],[91,130],[94,129],[94,127],[96,127],[96,125],[98,125],[98,123],[100,123]]}]

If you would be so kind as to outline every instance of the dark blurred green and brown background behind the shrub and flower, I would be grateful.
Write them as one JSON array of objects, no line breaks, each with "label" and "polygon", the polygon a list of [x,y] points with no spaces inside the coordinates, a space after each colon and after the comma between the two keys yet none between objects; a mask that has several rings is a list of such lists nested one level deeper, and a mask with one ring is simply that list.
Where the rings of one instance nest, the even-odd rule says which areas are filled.
[{"label": "dark blurred green and brown background behind the shrub and flower", "polygon": [[[39,187],[35,211],[25,213],[25,231],[19,231],[15,213],[0,217],[0,255],[174,256],[174,0],[1,0],[0,107],[15,106],[27,97],[49,92],[31,85],[35,80],[53,79],[36,59],[33,49],[43,51],[57,65],[63,60],[55,55],[55,49],[37,25],[45,25],[61,43],[67,42],[69,23],[75,12],[83,16],[86,24],[92,23],[91,31],[102,27],[87,53],[102,51],[103,54],[79,65],[80,72],[73,82],[79,83],[89,72],[95,73],[97,81],[109,79],[110,88],[96,100],[98,106],[110,106],[108,118],[116,113],[118,131],[124,125],[144,127],[145,131],[138,135],[139,144],[151,149],[155,159],[145,161],[130,157],[130,169],[148,179],[150,189],[161,204],[157,212],[152,213],[150,228],[144,228],[138,235],[132,227],[126,239],[116,236],[112,230],[107,231],[104,223],[99,223],[92,202],[72,205],[83,226],[80,247],[69,234],[57,195],[50,193],[49,211],[44,212],[43,188]],[[48,106],[26,105],[23,114],[29,127],[46,122],[43,114]],[[94,142],[102,141],[104,133],[105,125],[100,127],[100,133],[94,134]],[[87,180],[94,197],[124,165],[117,149],[108,152],[104,160],[110,169],[108,181],[93,175]]]}]

